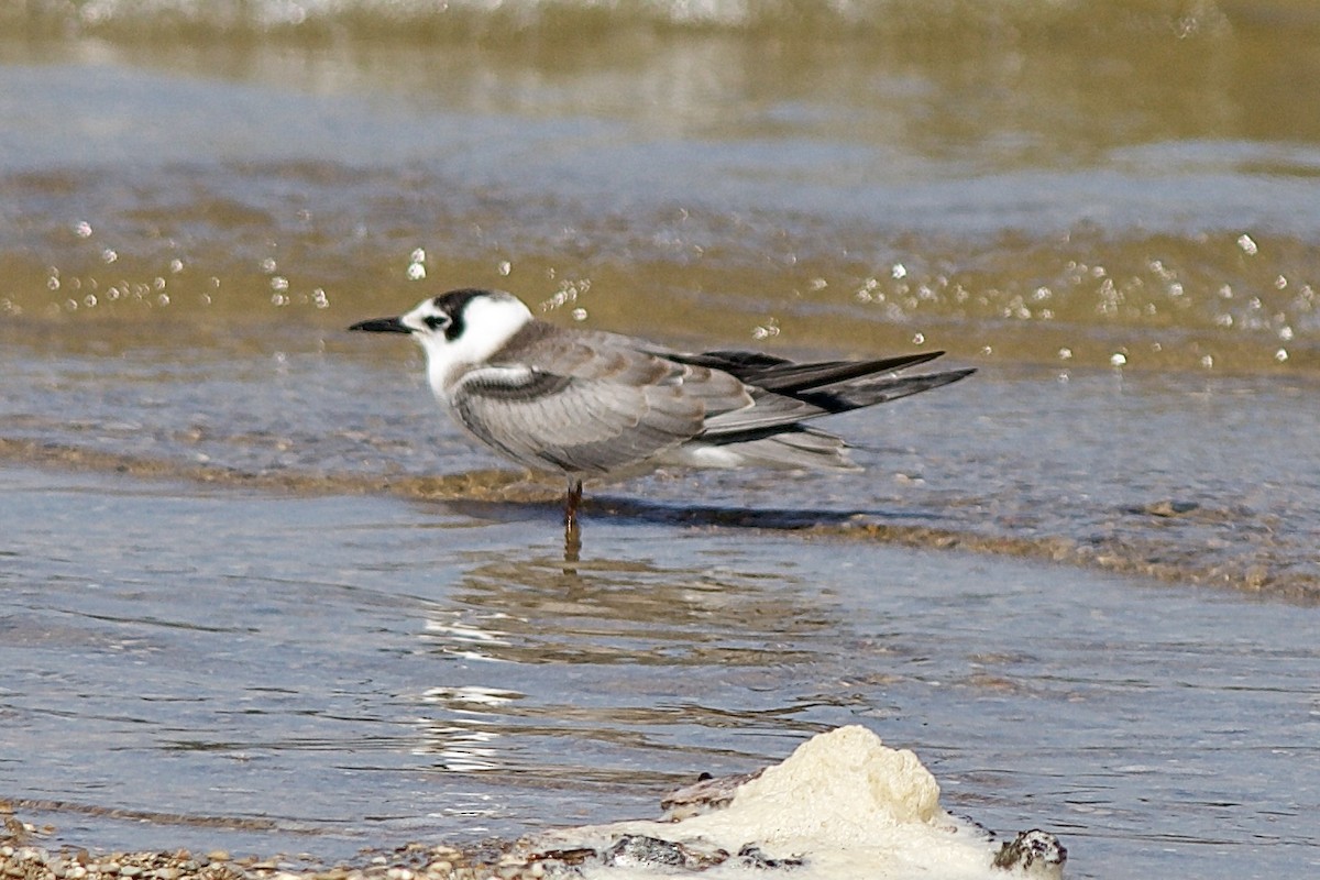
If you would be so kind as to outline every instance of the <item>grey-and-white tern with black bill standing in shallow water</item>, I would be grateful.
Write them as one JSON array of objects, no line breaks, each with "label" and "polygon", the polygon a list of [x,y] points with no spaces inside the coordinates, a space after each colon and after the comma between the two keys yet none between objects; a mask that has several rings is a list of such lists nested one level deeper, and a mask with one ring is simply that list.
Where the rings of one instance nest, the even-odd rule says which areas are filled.
[{"label": "grey-and-white tern with black bill standing in shallow water", "polygon": [[808,422],[956,383],[974,368],[900,375],[942,351],[799,363],[759,351],[684,352],[533,317],[503,290],[463,288],[350,331],[407,334],[454,421],[504,458],[582,480],[659,466],[861,470],[849,445]]}]

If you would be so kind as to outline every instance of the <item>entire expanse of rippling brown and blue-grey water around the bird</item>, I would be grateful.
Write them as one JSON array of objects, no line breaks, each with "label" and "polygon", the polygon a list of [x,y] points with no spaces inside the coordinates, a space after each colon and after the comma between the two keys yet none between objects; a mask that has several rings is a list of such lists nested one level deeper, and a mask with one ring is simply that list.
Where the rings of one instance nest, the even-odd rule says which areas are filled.
[{"label": "entire expanse of rippling brown and blue-grey water around the bird", "polygon": [[[1320,20],[1094,5],[0,9],[0,798],[337,859],[861,720],[1073,876],[1313,872]],[[459,285],[979,372],[566,570],[343,332]]]}]

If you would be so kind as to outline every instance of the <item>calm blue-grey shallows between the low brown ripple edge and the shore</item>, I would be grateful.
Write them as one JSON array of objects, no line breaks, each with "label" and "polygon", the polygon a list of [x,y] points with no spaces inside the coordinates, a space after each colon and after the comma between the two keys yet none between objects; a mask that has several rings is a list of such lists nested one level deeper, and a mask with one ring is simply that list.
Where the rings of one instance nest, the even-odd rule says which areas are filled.
[{"label": "calm blue-grey shallows between the low brown ripple edge and the shore", "polygon": [[566,573],[535,509],[4,482],[0,785],[62,839],[334,858],[645,817],[861,720],[1074,876],[1316,859],[1309,612],[614,520]]}]

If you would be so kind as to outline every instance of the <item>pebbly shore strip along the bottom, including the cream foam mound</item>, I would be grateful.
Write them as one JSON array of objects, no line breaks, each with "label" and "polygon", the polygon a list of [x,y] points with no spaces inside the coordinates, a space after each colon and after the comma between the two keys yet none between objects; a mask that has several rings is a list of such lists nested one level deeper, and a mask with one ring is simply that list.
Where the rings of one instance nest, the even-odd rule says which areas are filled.
[{"label": "pebbly shore strip along the bottom, including the cream foam mound", "polygon": [[[0,809],[11,805],[0,803]],[[0,876],[24,880],[469,880],[694,875],[719,868],[820,877],[978,877],[1059,880],[1067,848],[1039,829],[1007,840],[946,811],[940,785],[909,749],[851,724],[818,734],[759,772],[704,777],[671,793],[659,821],[574,826],[491,840],[466,850],[407,843],[362,850],[330,867],[314,856],[235,859],[213,850],[51,852],[49,834],[5,815]],[[723,876],[723,875],[722,875]]]}]

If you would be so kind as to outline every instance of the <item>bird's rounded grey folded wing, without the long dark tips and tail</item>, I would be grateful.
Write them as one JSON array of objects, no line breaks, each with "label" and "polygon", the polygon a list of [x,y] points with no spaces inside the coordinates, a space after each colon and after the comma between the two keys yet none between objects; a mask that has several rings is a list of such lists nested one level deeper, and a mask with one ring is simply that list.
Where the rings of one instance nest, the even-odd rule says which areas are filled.
[{"label": "bird's rounded grey folded wing, without the long dark tips and tail", "polygon": [[733,376],[639,351],[626,336],[531,325],[449,391],[457,421],[533,470],[606,474],[702,431],[706,414],[750,408]]}]

